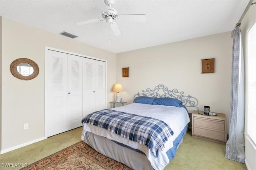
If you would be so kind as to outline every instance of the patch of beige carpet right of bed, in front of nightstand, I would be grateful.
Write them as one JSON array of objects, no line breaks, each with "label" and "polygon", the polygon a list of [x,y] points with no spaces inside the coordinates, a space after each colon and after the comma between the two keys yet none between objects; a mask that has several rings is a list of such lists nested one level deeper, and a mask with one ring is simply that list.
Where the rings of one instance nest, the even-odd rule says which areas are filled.
[{"label": "patch of beige carpet right of bed, in front of nightstand", "polygon": [[226,145],[192,137],[191,130],[165,170],[247,170],[246,165],[225,158]]}]

